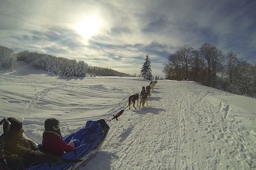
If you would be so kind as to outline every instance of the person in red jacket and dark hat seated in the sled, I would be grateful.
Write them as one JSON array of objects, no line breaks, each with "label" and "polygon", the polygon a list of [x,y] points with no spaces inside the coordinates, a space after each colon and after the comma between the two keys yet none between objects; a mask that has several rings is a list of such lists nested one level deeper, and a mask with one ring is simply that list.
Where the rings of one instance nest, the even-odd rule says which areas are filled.
[{"label": "person in red jacket and dark hat seated in the sled", "polygon": [[72,151],[74,147],[62,140],[60,121],[49,118],[44,122],[42,150],[45,153],[61,156],[65,151]]}]

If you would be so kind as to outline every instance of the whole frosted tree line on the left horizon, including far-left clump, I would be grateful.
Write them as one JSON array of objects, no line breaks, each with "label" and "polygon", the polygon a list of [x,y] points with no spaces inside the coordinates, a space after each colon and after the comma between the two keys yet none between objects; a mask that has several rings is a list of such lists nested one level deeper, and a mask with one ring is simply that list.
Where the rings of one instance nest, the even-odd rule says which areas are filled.
[{"label": "whole frosted tree line on the left horizon, including far-left clump", "polygon": [[67,77],[85,77],[86,75],[131,76],[127,73],[117,72],[110,68],[89,66],[87,63],[84,63],[84,61],[76,61],[76,59],[61,58],[49,54],[29,52],[27,50],[14,54],[13,50],[0,47],[0,69],[11,68],[11,70],[13,70],[16,60],[25,61],[28,65],[36,69]]}]

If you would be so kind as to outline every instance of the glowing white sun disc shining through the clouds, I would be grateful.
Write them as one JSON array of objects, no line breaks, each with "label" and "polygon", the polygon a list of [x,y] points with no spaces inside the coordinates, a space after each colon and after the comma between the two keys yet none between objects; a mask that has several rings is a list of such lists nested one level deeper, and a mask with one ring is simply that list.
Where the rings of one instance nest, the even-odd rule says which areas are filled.
[{"label": "glowing white sun disc shining through the clouds", "polygon": [[96,16],[84,17],[76,25],[76,31],[86,40],[97,35],[97,33],[99,33],[99,29],[100,19]]}]

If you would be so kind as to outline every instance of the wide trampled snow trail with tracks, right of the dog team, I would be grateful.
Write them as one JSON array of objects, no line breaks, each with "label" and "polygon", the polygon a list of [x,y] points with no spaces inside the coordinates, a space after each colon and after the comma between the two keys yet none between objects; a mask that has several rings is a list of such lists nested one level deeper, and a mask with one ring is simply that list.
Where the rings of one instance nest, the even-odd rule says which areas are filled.
[{"label": "wide trampled snow trail with tracks, right of the dog team", "polygon": [[255,168],[255,128],[236,120],[229,104],[214,103],[220,95],[230,94],[194,82],[159,81],[149,107],[111,122],[102,151],[85,169]]}]

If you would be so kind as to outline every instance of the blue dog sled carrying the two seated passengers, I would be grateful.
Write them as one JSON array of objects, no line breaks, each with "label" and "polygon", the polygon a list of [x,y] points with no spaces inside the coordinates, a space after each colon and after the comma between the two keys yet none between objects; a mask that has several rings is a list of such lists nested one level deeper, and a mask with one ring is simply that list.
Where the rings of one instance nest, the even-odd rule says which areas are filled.
[{"label": "blue dog sled carrying the two seated passengers", "polygon": [[[8,122],[4,118],[1,122]],[[10,125],[10,122],[8,122]],[[105,120],[98,121],[87,121],[84,128],[81,128],[77,132],[74,132],[66,137],[63,137],[63,141],[69,143],[73,141],[76,145],[76,149],[65,153],[61,156],[63,160],[71,160],[63,164],[36,164],[27,168],[27,170],[38,170],[38,169],[79,169],[83,167],[88,160],[90,160],[99,151],[102,143],[104,143],[106,136],[108,135],[109,126]],[[0,169],[8,169],[8,160],[22,160],[17,155],[4,150],[4,134],[0,137]],[[72,161],[79,160],[79,161]]]}]

